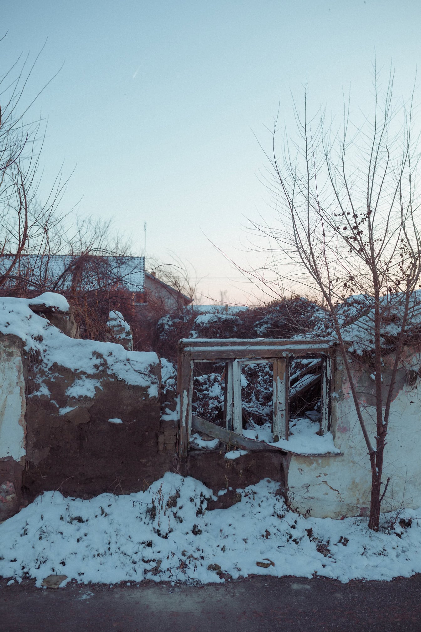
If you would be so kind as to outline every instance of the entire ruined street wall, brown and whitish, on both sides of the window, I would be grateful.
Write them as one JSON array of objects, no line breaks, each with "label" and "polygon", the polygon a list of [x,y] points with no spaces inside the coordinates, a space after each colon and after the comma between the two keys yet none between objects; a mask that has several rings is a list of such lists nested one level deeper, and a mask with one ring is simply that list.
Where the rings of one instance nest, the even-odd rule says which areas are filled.
[{"label": "entire ruined street wall, brown and whitish, on both sides of the window", "polygon": [[[44,295],[47,299],[54,309],[54,295]],[[280,483],[280,493],[288,482],[292,505],[302,513],[332,518],[367,515],[371,490],[367,447],[340,356],[335,360],[331,432],[341,454],[292,454],[289,462],[285,456],[249,453],[227,461],[220,450],[191,451],[181,461],[176,451],[177,415],[174,410],[160,415],[161,367],[155,353],[72,339],[33,313],[30,301],[3,301],[0,520],[17,511],[22,490],[27,500],[55,489],[81,497],[128,493],[170,470],[198,478],[215,494],[227,489],[215,506],[235,502],[237,488],[268,477]],[[421,355],[410,348],[405,353],[384,458],[383,480],[391,477],[383,504],[386,511],[402,503],[421,505]],[[384,362],[386,391],[391,359]],[[353,372],[374,437],[371,370],[355,362]],[[170,395],[167,392],[165,397],[171,399]]]}]

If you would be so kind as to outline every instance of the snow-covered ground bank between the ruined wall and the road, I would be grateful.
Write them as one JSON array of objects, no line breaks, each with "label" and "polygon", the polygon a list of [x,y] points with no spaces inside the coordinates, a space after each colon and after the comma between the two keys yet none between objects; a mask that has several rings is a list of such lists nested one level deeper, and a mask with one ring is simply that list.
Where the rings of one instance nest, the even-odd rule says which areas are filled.
[{"label": "snow-covered ground bank between the ruined wall and the road", "polygon": [[82,583],[207,583],[249,574],[346,582],[421,572],[420,513],[406,511],[393,528],[374,533],[366,518],[292,513],[277,488],[265,479],[237,490],[234,506],[213,511],[205,485],[174,473],[146,492],[90,501],[45,492],[0,525],[0,575],[40,586],[50,574]]}]

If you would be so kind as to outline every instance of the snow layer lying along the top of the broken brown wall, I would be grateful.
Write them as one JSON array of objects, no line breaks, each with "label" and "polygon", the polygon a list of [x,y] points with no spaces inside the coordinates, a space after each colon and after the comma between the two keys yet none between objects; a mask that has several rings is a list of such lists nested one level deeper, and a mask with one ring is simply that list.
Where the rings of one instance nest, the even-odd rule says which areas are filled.
[{"label": "snow layer lying along the top of the broken brown wall", "polygon": [[[39,305],[44,296],[33,299],[0,298],[0,332],[15,334],[23,341],[27,351],[39,353],[45,372],[54,375],[54,364],[72,370],[76,374],[76,382],[70,387],[70,390],[74,388],[72,396],[78,396],[77,392],[90,396],[92,388],[86,375],[102,369],[127,384],[146,387],[150,397],[158,395],[158,380],[152,370],[159,363],[156,353],[126,351],[121,344],[66,336],[30,309],[30,304]],[[57,298],[50,300],[50,303],[53,302],[63,305]]]}]

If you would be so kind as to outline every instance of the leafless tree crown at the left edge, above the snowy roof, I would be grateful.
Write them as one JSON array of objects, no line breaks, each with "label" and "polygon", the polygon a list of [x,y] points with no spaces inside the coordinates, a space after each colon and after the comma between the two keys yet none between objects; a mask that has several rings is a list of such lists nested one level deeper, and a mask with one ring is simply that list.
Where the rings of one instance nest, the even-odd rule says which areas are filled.
[{"label": "leafless tree crown at the left edge, above the snowy roof", "polygon": [[35,100],[56,75],[27,105],[23,103],[28,79],[41,52],[32,66],[28,66],[28,57],[23,61],[20,57],[0,75],[0,258],[9,255],[1,261],[0,286],[10,277],[20,276],[23,253],[50,250],[56,228],[64,219],[64,214],[56,212],[67,183],[62,181],[61,173],[44,202],[38,201],[45,123],[40,117],[33,120],[31,114]]}]

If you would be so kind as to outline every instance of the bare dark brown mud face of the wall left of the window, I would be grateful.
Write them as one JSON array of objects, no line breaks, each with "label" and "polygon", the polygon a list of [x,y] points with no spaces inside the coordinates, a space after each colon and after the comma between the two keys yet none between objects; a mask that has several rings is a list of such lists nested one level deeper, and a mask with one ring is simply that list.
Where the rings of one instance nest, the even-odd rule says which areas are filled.
[{"label": "bare dark brown mud face of the wall left of the window", "polygon": [[74,373],[59,366],[53,378],[29,379],[27,495],[47,489],[82,497],[129,493],[161,477],[166,464],[157,449],[158,395],[105,371],[86,376],[85,394],[75,382]]}]

